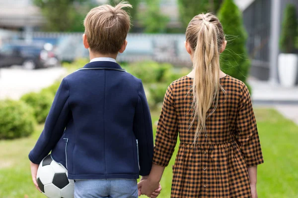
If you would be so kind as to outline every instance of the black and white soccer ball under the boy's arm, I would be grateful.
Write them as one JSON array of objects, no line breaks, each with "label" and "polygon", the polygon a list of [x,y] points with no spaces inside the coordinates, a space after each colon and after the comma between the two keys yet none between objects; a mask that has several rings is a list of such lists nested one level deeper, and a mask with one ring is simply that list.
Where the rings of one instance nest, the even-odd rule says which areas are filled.
[{"label": "black and white soccer ball under the boy's arm", "polygon": [[74,180],[68,179],[67,169],[55,162],[51,155],[40,162],[36,179],[48,198],[74,198]]}]

